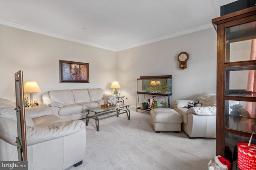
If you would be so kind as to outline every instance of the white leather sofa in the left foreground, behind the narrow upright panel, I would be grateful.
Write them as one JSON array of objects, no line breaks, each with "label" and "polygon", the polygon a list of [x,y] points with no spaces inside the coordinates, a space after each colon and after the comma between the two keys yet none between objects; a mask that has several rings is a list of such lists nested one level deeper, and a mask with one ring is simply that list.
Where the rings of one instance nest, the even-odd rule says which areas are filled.
[{"label": "white leather sofa in the left foreground, behind the narrow upright panel", "polygon": [[[0,99],[0,160],[18,161],[16,104]],[[85,123],[63,121],[48,106],[25,109],[28,170],[64,170],[84,159]]]}]

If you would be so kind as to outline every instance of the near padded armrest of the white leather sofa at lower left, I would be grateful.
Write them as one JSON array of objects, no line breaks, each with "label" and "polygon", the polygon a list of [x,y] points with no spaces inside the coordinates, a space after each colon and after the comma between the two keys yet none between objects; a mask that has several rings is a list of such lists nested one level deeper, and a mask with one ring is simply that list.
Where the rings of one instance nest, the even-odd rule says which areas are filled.
[{"label": "near padded armrest of the white leather sofa at lower left", "polygon": [[54,123],[43,127],[26,127],[27,145],[68,136],[85,128],[81,120]]}]

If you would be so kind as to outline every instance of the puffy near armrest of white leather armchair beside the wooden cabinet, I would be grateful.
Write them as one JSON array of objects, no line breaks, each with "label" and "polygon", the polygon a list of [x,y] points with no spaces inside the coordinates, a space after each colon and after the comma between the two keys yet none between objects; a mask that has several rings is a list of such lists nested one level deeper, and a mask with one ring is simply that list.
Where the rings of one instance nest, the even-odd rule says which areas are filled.
[{"label": "puffy near armrest of white leather armchair beside the wooden cabinet", "polygon": [[194,115],[216,115],[216,106],[190,107],[186,113],[192,113]]}]

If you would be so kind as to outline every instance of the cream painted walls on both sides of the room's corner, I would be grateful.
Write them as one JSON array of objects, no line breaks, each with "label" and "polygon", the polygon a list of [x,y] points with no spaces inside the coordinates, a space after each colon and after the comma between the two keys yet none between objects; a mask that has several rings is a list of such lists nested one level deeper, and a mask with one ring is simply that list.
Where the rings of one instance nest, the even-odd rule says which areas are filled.
[{"label": "cream painted walls on both sides of the room's corner", "polygon": [[[181,70],[177,56],[189,54]],[[59,83],[59,60],[90,64],[90,83]],[[202,92],[216,92],[216,32],[213,28],[113,52],[38,33],[0,25],[0,98],[15,101],[14,73],[23,70],[24,82],[38,82],[49,90],[103,88],[108,93],[118,80],[126,104],[136,105],[137,78],[172,75],[172,102],[193,99]],[[41,94],[34,100],[41,102]],[[30,96],[29,96],[30,99]],[[157,96],[156,100],[166,98]]]}]

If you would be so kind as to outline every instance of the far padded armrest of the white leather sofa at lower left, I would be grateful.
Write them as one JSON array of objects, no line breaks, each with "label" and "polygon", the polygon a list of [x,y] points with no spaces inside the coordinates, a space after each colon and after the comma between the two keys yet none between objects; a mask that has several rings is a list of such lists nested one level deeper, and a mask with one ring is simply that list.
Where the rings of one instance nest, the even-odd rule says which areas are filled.
[{"label": "far padded armrest of the white leather sofa at lower left", "polygon": [[28,114],[31,119],[34,119],[36,117],[52,115],[52,109],[49,106],[30,107],[25,109],[25,113]]}]

